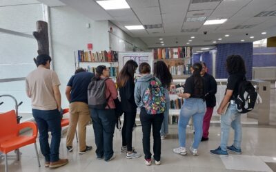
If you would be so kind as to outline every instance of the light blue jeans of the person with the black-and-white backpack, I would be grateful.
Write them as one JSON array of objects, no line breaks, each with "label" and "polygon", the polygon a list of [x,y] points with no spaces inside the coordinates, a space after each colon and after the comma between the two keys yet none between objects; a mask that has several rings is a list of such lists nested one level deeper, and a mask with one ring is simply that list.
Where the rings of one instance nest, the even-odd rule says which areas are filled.
[{"label": "light blue jeans of the person with the black-and-white backpack", "polygon": [[235,103],[229,104],[228,109],[224,115],[221,115],[221,143],[222,151],[227,151],[229,130],[232,127],[235,130],[234,147],[241,149],[242,142],[242,124],[241,114],[236,109]]}]

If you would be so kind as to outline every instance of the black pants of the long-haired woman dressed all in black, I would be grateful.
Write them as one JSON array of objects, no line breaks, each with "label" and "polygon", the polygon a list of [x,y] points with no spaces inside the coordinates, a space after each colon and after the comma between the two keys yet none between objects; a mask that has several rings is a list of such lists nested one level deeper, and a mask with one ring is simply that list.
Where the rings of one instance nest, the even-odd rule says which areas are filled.
[{"label": "black pants of the long-haired woman dressed all in black", "polygon": [[128,151],[132,151],[132,130],[135,124],[136,110],[133,112],[124,112],[124,125],[121,129],[121,138],[123,146],[128,147]]}]

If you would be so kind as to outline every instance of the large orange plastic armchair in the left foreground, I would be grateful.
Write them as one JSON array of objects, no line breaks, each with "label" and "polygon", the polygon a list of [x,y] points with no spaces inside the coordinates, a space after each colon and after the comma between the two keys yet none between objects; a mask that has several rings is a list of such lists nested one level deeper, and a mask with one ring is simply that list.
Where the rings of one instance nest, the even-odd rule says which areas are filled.
[{"label": "large orange plastic armchair in the left foreground", "polygon": [[[21,129],[31,128],[32,136],[19,135]],[[24,147],[28,144],[34,144],[37,153],[37,162],[40,167],[39,153],[37,152],[37,125],[34,122],[22,122],[17,124],[15,111],[8,111],[0,114],[0,151],[5,153],[5,171],[8,172],[8,153]],[[17,150],[19,160],[19,150]]]}]

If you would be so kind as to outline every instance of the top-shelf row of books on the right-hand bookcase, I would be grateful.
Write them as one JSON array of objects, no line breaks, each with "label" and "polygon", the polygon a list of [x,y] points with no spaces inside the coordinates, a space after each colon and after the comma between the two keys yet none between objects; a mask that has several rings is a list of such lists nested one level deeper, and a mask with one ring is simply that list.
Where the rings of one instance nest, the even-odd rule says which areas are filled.
[{"label": "top-shelf row of books on the right-hand bookcase", "polygon": [[193,50],[192,47],[166,47],[153,49],[152,54],[155,60],[169,58],[190,58],[193,56]]}]

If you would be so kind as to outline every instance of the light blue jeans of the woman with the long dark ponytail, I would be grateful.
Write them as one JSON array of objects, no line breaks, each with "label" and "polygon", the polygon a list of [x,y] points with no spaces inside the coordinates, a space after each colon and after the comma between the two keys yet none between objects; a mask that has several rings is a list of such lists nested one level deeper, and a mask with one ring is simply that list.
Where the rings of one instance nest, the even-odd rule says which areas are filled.
[{"label": "light blue jeans of the woman with the long dark ponytail", "polygon": [[193,148],[199,147],[202,137],[202,124],[206,111],[206,103],[201,98],[188,98],[184,99],[184,104],[181,107],[179,122],[178,122],[178,135],[179,146],[186,147],[186,126],[190,118],[193,116],[193,125],[195,127],[195,137]]}]

